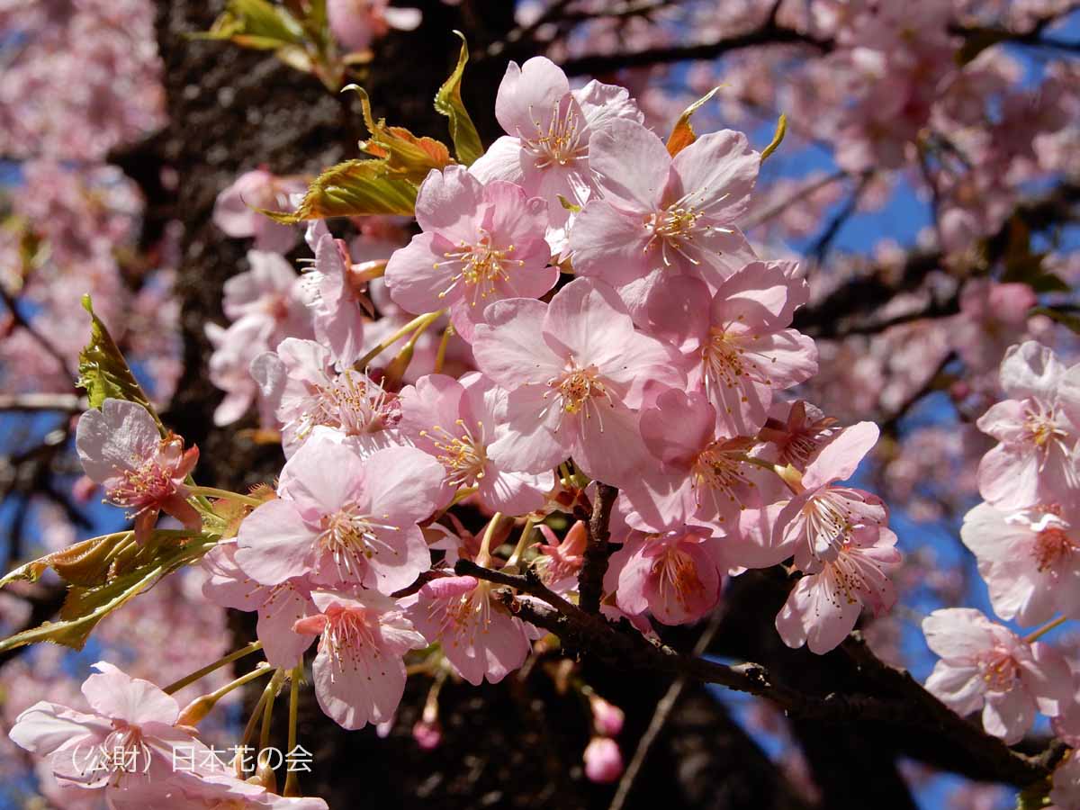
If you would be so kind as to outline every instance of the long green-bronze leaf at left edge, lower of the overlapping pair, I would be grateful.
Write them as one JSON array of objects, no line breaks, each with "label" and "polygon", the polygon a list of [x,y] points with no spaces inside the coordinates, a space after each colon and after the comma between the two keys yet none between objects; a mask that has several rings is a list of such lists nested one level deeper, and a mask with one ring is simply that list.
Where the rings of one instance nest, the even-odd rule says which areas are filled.
[{"label": "long green-bronze leaf at left edge, lower of the overlapping pair", "polygon": [[217,543],[216,537],[204,536],[186,545],[159,549],[152,558],[107,584],[71,588],[60,608],[59,621],[16,633],[0,642],[0,652],[38,642],[63,644],[81,650],[91,631],[102,619],[126,602],[152,586],[162,577],[201,557]]}]

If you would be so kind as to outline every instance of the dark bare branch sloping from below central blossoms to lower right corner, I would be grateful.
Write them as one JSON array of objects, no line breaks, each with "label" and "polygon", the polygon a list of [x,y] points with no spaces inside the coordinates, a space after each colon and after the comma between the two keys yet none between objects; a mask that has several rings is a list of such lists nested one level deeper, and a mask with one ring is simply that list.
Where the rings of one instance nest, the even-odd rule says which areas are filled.
[{"label": "dark bare branch sloping from below central blossoms to lower right corner", "polygon": [[515,598],[509,591],[495,594],[499,606],[523,621],[555,634],[565,647],[615,665],[718,684],[734,691],[766,698],[800,719],[914,727],[963,746],[973,757],[981,758],[1000,774],[1002,781],[1014,785],[1031,784],[1045,779],[1049,773],[1040,760],[1011,751],[997,738],[970,725],[927,692],[908,673],[883,664],[858,640],[846,643],[845,651],[861,657],[859,664],[866,671],[870,685],[883,688],[887,694],[805,694],[775,683],[768,670],[759,664],[729,666],[684,656],[664,644],[645,639],[633,629],[627,630],[603,617],[586,613],[549,590],[531,569],[526,576],[509,575],[459,559],[455,571],[460,576],[516,589],[546,603]]}]

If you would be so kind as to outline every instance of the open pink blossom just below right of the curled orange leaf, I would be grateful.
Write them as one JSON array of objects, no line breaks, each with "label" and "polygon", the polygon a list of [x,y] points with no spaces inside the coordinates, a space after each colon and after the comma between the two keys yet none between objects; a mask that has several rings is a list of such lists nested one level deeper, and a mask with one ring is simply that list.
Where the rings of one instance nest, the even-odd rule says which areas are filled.
[{"label": "open pink blossom just below right of the curled orange leaf", "polygon": [[409,312],[450,308],[455,328],[472,339],[484,308],[502,298],[551,289],[546,205],[505,180],[483,184],[463,166],[432,170],[416,198],[423,233],[387,265],[390,296]]}]

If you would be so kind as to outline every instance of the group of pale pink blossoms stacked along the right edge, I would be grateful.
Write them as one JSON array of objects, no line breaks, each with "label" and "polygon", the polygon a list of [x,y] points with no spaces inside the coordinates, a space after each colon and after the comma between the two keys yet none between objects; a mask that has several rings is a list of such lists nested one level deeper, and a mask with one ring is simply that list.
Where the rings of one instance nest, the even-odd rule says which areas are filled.
[{"label": "group of pale pink blossoms stacked along the right edge", "polygon": [[[994,611],[1020,636],[972,608],[934,611],[922,622],[941,657],[927,688],[960,714],[982,710],[987,732],[1016,743],[1037,713],[1070,744],[1080,740],[1080,681],[1053,645],[1036,640],[1080,613],[1080,365],[1066,367],[1035,341],[1001,362],[1007,399],[978,429],[997,441],[978,464],[985,499],[964,516],[961,538],[978,561]],[[1051,798],[1080,799],[1076,761],[1054,775]]]}]

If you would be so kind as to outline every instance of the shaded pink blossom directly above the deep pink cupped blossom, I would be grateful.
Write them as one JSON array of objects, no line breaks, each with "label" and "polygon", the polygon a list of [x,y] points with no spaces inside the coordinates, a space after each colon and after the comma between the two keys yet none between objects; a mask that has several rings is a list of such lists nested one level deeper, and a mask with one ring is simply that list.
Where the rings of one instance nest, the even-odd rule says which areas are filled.
[{"label": "shaded pink blossom directly above the deep pink cupped blossom", "polygon": [[733,527],[777,488],[775,476],[747,461],[755,442],[716,435],[716,409],[704,394],[665,391],[642,411],[640,433],[654,459],[623,488],[627,522],[665,531],[684,523]]}]

